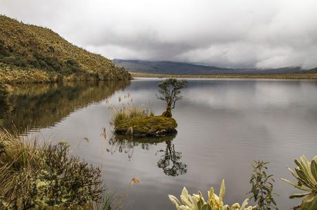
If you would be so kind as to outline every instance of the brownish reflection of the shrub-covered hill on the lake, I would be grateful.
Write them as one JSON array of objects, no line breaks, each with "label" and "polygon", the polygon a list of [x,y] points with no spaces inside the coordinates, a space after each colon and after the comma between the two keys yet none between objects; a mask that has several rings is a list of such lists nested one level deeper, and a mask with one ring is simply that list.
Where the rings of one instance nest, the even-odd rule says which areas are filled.
[{"label": "brownish reflection of the shrub-covered hill on the lake", "polygon": [[0,126],[18,130],[54,126],[74,110],[110,97],[125,89],[127,81],[63,82],[54,84],[17,84],[0,102]]}]

